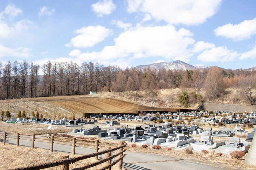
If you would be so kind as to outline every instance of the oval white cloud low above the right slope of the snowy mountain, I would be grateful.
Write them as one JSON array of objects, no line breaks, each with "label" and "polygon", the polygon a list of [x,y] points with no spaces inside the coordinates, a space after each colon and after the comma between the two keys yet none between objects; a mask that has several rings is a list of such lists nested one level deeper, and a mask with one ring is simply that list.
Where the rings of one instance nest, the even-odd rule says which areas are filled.
[{"label": "oval white cloud low above the right slope of the snowy mountain", "polygon": [[214,47],[206,50],[197,56],[197,60],[203,62],[228,62],[236,60],[239,57],[237,51],[229,50],[227,47]]}]

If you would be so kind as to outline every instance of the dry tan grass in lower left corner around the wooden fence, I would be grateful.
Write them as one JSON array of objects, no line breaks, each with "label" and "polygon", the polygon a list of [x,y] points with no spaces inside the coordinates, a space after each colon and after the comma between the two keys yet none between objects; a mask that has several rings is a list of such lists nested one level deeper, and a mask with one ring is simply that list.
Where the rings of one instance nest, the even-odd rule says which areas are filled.
[{"label": "dry tan grass in lower left corner around the wooden fence", "polygon": [[[23,147],[23,146],[15,146],[15,145],[3,145],[0,142],[0,169],[14,169],[19,167],[27,167],[33,165],[39,165],[47,162],[53,162],[59,160],[60,155],[69,155],[69,157],[73,158],[72,154],[63,153],[63,152],[50,152],[46,149],[34,148],[31,147]],[[70,164],[69,168],[79,168],[81,165],[87,165],[95,162],[94,158],[89,158],[86,160],[81,160],[74,164]],[[104,165],[104,164],[102,164]],[[88,170],[97,170],[102,168],[102,165],[98,165]],[[113,170],[117,170],[117,165],[112,167]],[[59,170],[59,167],[46,168],[45,170]]]}]

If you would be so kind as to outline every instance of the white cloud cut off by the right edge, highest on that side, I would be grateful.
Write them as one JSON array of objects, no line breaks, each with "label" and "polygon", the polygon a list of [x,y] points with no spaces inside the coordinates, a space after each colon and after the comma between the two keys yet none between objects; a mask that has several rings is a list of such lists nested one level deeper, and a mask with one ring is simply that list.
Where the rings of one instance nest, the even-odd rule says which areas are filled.
[{"label": "white cloud cut off by the right edge, highest on that side", "polygon": [[249,39],[256,34],[256,18],[245,20],[236,25],[229,23],[216,28],[213,32],[216,36],[231,38],[233,41]]}]

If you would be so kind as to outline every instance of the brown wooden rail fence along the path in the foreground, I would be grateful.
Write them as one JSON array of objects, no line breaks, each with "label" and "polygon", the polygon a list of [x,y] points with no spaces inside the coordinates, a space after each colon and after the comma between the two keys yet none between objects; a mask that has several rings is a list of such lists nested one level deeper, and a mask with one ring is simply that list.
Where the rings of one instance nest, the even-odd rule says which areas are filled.
[{"label": "brown wooden rail fence along the path in the foreground", "polygon": [[[55,166],[60,166],[60,170],[69,170],[69,164],[75,163],[79,160],[88,159],[91,157],[95,157],[97,161],[80,168],[73,168],[72,170],[84,170],[102,163],[105,163],[105,166],[100,170],[105,170],[105,169],[111,170],[111,167],[117,163],[118,163],[117,165],[118,169],[121,170],[123,165],[123,157],[126,155],[124,154],[124,152],[126,151],[126,149],[124,149],[124,147],[126,146],[126,143],[124,142],[115,143],[110,141],[101,141],[98,139],[91,140],[91,139],[80,139],[75,137],[68,138],[68,137],[47,136],[47,135],[29,135],[29,134],[19,134],[19,133],[16,134],[16,133],[9,133],[9,132],[8,133],[0,132],[0,136],[3,137],[4,145],[6,143],[6,139],[8,138],[16,139],[17,146],[19,146],[20,139],[32,141],[31,142],[32,148],[34,148],[35,142],[47,142],[47,143],[50,143],[51,152],[53,152],[54,143],[62,144],[62,145],[70,145],[72,146],[72,155],[75,155],[76,146],[95,149],[95,153],[92,153],[92,154],[82,155],[74,158],[69,158],[69,155],[62,155],[59,158],[60,160],[55,162],[48,162],[48,163],[44,163],[36,166],[30,166],[30,167],[15,168],[12,170],[38,170],[38,169],[55,167]],[[110,144],[111,147],[108,144]],[[103,151],[99,152],[99,148],[101,148],[101,150]],[[112,152],[115,154],[111,155]],[[102,154],[105,154],[105,159],[98,160],[98,156]],[[111,160],[115,157],[117,157],[117,159],[111,163]]]}]

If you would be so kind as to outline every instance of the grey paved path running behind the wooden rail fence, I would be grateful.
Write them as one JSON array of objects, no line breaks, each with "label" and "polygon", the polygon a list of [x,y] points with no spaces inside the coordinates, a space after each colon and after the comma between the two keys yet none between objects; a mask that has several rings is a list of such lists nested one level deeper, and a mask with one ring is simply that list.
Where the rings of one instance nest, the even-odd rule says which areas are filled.
[{"label": "grey paved path running behind the wooden rail fence", "polygon": [[[0,130],[1,131],[1,130]],[[0,141],[2,139],[0,138]],[[16,139],[6,139],[6,143],[15,144]],[[20,139],[19,145],[21,146],[29,146],[31,147],[31,141]],[[49,149],[50,143],[45,142],[35,142],[35,147]],[[61,145],[54,144],[54,151],[68,152],[72,153],[72,146],[69,145]],[[76,154],[89,154],[94,153],[94,149],[76,147]],[[175,158],[170,156],[163,156],[158,154],[150,154],[150,153],[139,153],[139,152],[125,152],[127,155],[123,159],[123,166],[128,170],[199,170],[199,169],[207,169],[207,170],[223,170],[223,169],[231,169],[235,168],[228,167],[225,165],[218,165],[208,162],[203,162],[195,159],[189,158]],[[100,158],[105,157],[104,155],[99,156]]]}]

